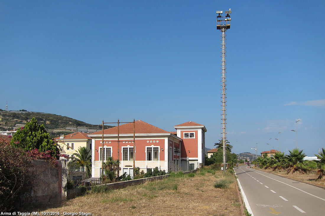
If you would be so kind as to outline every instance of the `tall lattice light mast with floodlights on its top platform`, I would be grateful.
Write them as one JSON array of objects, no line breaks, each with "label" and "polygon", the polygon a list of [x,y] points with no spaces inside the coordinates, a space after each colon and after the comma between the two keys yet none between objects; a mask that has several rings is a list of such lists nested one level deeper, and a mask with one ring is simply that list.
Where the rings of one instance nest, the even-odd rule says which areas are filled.
[{"label": "tall lattice light mast with floodlights on its top platform", "polygon": [[227,120],[227,118],[226,118],[226,111],[227,111],[227,105],[226,105],[226,31],[227,31],[227,29],[230,29],[230,20],[231,20],[231,18],[230,18],[230,15],[229,14],[231,14],[231,10],[229,9],[229,11],[225,11],[225,13],[227,14],[225,17],[222,17],[221,16],[221,14],[223,13],[223,11],[217,11],[216,12],[217,14],[218,14],[218,16],[217,16],[217,29],[219,29],[221,32],[222,32],[222,39],[221,39],[221,41],[222,41],[222,43],[221,43],[221,45],[222,45],[222,47],[221,47],[221,49],[222,49],[222,51],[221,51],[221,57],[222,57],[222,60],[221,60],[221,66],[222,66],[222,72],[221,72],[221,74],[222,74],[222,76],[221,76],[221,78],[222,78],[222,80],[221,80],[221,90],[222,90],[222,93],[221,93],[221,98],[222,98],[222,118],[221,118],[221,120],[222,120],[222,126],[221,126],[221,128],[222,128],[222,143],[223,143],[223,170],[224,170],[224,173],[226,172],[226,167],[227,167],[227,160],[226,160],[226,140],[227,140],[227,138],[226,138],[226,129],[227,129],[227,126],[226,126],[226,120]]}]

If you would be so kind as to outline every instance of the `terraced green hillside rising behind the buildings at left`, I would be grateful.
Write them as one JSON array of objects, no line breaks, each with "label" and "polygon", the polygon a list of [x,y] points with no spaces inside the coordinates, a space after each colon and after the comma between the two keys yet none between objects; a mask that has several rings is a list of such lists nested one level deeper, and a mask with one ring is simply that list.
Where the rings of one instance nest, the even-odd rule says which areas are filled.
[{"label": "terraced green hillside rising behind the buildings at left", "polygon": [[[36,118],[37,123],[44,125],[46,130],[53,136],[60,135],[60,133],[67,134],[72,131],[87,130],[96,131],[102,130],[101,125],[92,125],[85,122],[69,118],[67,116],[61,116],[56,114],[30,112],[25,110],[20,111],[3,111],[0,110],[0,130],[12,130],[24,126],[33,117]],[[112,126],[105,125],[104,128],[110,128]]]}]

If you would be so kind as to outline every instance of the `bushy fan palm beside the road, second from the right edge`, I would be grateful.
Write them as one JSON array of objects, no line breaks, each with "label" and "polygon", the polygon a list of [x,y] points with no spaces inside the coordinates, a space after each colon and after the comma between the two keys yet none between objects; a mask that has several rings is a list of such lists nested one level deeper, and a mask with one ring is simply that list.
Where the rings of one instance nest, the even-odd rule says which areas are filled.
[{"label": "bushy fan palm beside the road, second from the right edge", "polygon": [[306,174],[308,172],[308,167],[303,163],[305,153],[303,150],[293,149],[287,156],[286,166],[288,166],[287,174]]}]

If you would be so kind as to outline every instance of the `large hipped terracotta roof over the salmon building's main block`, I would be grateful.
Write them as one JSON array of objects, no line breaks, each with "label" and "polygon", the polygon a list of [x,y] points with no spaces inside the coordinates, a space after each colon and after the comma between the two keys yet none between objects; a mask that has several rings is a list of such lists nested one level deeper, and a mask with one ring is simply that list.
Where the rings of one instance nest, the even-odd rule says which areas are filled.
[{"label": "large hipped terracotta roof over the salmon building's main block", "polygon": [[[135,132],[136,134],[155,134],[155,133],[170,133],[159,127],[155,127],[141,120],[135,122]],[[93,134],[102,134],[102,131],[97,131]],[[111,127],[104,130],[104,134],[117,134],[117,126]],[[133,134],[133,122],[120,125],[120,134]]]}]

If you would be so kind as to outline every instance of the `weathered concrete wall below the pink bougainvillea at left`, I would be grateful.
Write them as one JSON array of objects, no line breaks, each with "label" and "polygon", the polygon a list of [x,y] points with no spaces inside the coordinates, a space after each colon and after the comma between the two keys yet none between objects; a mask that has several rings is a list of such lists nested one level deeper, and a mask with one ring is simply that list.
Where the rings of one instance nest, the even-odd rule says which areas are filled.
[{"label": "weathered concrete wall below the pink bougainvillea at left", "polygon": [[59,169],[45,160],[33,160],[30,169],[33,176],[32,203],[48,203],[67,198],[64,187],[67,184],[66,161],[58,160]]}]

